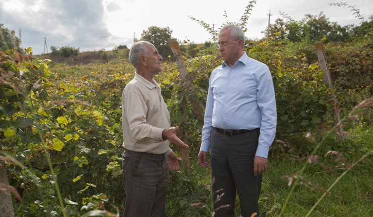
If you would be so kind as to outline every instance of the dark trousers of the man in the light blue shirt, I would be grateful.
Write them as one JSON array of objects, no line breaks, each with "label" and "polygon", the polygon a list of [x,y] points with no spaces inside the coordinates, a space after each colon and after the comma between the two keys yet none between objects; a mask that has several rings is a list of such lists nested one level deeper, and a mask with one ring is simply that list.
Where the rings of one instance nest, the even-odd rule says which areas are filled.
[{"label": "dark trousers of the man in the light blue shirt", "polygon": [[242,217],[259,216],[258,199],[261,175],[254,176],[254,156],[259,131],[226,136],[211,131],[211,168],[214,217],[233,217],[236,190]]}]

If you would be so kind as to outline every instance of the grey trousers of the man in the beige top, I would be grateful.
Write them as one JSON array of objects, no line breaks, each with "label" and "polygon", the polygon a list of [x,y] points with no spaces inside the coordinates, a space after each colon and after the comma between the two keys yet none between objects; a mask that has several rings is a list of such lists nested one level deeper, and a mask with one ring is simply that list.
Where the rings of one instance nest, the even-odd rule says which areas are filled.
[{"label": "grey trousers of the man in the beige top", "polygon": [[124,217],[164,217],[168,164],[166,154],[125,150],[123,187]]}]

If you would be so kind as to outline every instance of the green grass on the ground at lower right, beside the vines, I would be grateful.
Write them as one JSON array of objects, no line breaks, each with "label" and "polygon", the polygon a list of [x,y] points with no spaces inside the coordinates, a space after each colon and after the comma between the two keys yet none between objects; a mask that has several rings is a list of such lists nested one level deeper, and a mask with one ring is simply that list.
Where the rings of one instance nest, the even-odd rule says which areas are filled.
[{"label": "green grass on the ground at lower right, beside the vines", "polygon": [[[359,132],[354,132],[361,137],[352,140],[346,136],[346,142],[340,144],[335,140],[335,135],[331,135],[330,139],[324,140],[315,155],[319,158],[316,162],[307,163],[302,175],[298,172],[303,168],[305,160],[294,158],[297,150],[293,149],[291,153],[281,147],[281,144],[273,146],[268,157],[268,170],[263,175],[262,190],[259,199],[259,208],[261,214],[259,216],[277,217],[277,216],[373,216],[373,177],[370,175],[373,168],[372,155],[363,157],[372,150],[371,145],[366,144],[366,141],[371,140],[371,136],[366,132],[371,129],[363,129]],[[333,133],[332,133],[333,134]],[[295,139],[294,139],[295,138]],[[298,141],[302,137],[296,135],[293,142],[299,142],[304,145],[315,147],[306,139]],[[356,141],[357,140],[357,141]],[[362,140],[362,141],[360,141]],[[364,149],[358,151],[354,146],[364,144]],[[298,145],[299,146],[299,145]],[[328,153],[328,147],[335,147],[334,150],[342,150],[340,156],[345,156],[345,160],[338,158],[338,155],[325,156]],[[352,153],[348,148],[354,151]],[[367,151],[367,152],[366,152]],[[303,154],[306,154],[302,150]],[[364,158],[358,162],[353,169],[348,170],[348,164],[356,163],[360,158]],[[193,160],[192,160],[193,162]],[[343,166],[342,163],[345,165]],[[328,169],[325,169],[326,168]],[[198,174],[201,182],[211,183],[210,176],[206,174],[207,170],[198,169]],[[344,173],[344,174],[343,174]],[[203,175],[202,175],[203,174]],[[343,174],[343,175],[342,175]],[[293,177],[293,182],[289,186],[288,177]],[[302,178],[301,178],[302,177]],[[296,183],[296,179],[300,179]],[[329,190],[332,185],[334,186]],[[291,189],[294,191],[290,194]],[[323,197],[323,194],[325,196]],[[287,201],[287,197],[289,200]],[[312,207],[320,200],[315,206]],[[206,200],[212,206],[211,199]],[[281,209],[287,202],[287,206],[281,213]],[[238,196],[236,198],[236,215],[240,215]],[[265,213],[265,215],[264,215]],[[202,216],[202,215],[167,215],[167,216]],[[205,216],[212,216],[207,214]]]}]

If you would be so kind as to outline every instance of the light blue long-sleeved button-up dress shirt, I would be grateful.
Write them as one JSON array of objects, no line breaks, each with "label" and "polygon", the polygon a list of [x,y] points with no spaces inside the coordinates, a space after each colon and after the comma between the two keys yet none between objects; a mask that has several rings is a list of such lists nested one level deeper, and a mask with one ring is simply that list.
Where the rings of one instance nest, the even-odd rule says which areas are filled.
[{"label": "light blue long-sleeved button-up dress shirt", "polygon": [[276,124],[276,101],[268,66],[249,58],[244,52],[232,67],[223,62],[214,69],[209,80],[200,151],[209,151],[212,127],[227,130],[260,128],[255,155],[267,158]]}]

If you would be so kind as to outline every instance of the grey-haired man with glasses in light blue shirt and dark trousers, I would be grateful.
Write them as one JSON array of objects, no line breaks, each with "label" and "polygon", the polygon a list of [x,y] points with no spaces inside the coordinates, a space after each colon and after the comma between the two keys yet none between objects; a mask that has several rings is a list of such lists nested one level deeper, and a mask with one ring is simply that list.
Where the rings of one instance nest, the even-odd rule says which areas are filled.
[{"label": "grey-haired man with glasses in light blue shirt and dark trousers", "polygon": [[[276,102],[268,67],[243,51],[236,25],[219,33],[224,60],[210,76],[199,164],[211,149],[215,217],[234,216],[236,190],[243,217],[257,213],[261,174],[276,132]],[[223,194],[224,193],[224,194]]]}]

